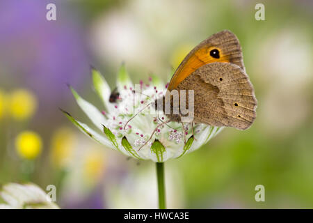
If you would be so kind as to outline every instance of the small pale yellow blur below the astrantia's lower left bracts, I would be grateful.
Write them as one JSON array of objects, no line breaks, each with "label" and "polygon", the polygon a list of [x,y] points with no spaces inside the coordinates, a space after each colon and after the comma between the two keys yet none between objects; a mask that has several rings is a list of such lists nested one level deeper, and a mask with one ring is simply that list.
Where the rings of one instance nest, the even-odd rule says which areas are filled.
[{"label": "small pale yellow blur below the astrantia's lower left bracts", "polygon": [[101,151],[87,153],[83,165],[83,175],[90,183],[94,183],[104,174],[104,166],[104,153]]}]

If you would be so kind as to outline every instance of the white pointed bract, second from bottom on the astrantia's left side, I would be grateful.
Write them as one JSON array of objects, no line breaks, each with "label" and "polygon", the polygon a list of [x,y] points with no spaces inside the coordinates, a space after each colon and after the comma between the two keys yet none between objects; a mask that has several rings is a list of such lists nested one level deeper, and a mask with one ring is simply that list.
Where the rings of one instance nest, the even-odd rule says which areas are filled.
[{"label": "white pointed bract, second from bottom on the astrantia's left side", "polygon": [[88,101],[81,98],[81,96],[79,96],[77,91],[75,91],[72,88],[72,86],[70,86],[70,89],[79,107],[83,110],[83,112],[85,112],[85,114],[95,124],[95,126],[97,126],[97,128],[101,130],[102,124],[106,123],[106,119],[104,118],[103,114],[99,112],[97,107],[95,107],[94,105],[90,104]]}]

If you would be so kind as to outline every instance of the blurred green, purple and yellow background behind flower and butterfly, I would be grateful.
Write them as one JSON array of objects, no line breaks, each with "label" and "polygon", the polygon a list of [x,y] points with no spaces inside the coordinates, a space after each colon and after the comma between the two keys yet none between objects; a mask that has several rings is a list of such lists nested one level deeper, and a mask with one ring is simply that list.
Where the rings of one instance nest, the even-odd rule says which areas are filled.
[{"label": "blurred green, purple and yellow background behind flower and butterfly", "polygon": [[[56,21],[47,21],[55,3]],[[264,3],[265,21],[255,20]],[[171,69],[230,29],[255,86],[257,119],[166,162],[168,208],[313,208],[312,1],[1,1],[0,184],[57,186],[61,208],[157,208],[154,163],[95,144],[58,111],[88,122],[66,84],[101,107],[92,64],[112,88]],[[31,150],[25,145],[31,144]],[[265,201],[255,201],[264,185]]]}]

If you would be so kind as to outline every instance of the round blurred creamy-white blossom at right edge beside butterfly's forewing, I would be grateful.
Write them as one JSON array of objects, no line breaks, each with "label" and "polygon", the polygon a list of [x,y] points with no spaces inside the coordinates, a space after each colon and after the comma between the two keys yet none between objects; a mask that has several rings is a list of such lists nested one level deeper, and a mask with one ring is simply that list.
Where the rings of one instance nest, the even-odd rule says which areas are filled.
[{"label": "round blurred creamy-white blossom at right edge beside butterfly's forewing", "polygon": [[275,88],[298,91],[313,79],[312,38],[300,27],[283,29],[265,41],[259,59],[264,78]]}]

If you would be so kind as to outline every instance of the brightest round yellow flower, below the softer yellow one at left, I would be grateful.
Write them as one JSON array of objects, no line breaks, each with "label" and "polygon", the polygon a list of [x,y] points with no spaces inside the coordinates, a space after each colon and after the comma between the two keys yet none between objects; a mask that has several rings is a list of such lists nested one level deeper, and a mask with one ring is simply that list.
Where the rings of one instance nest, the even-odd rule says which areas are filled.
[{"label": "brightest round yellow flower, below the softer yellow one at left", "polygon": [[35,132],[24,131],[15,138],[15,147],[20,157],[33,160],[41,153],[42,139]]}]

